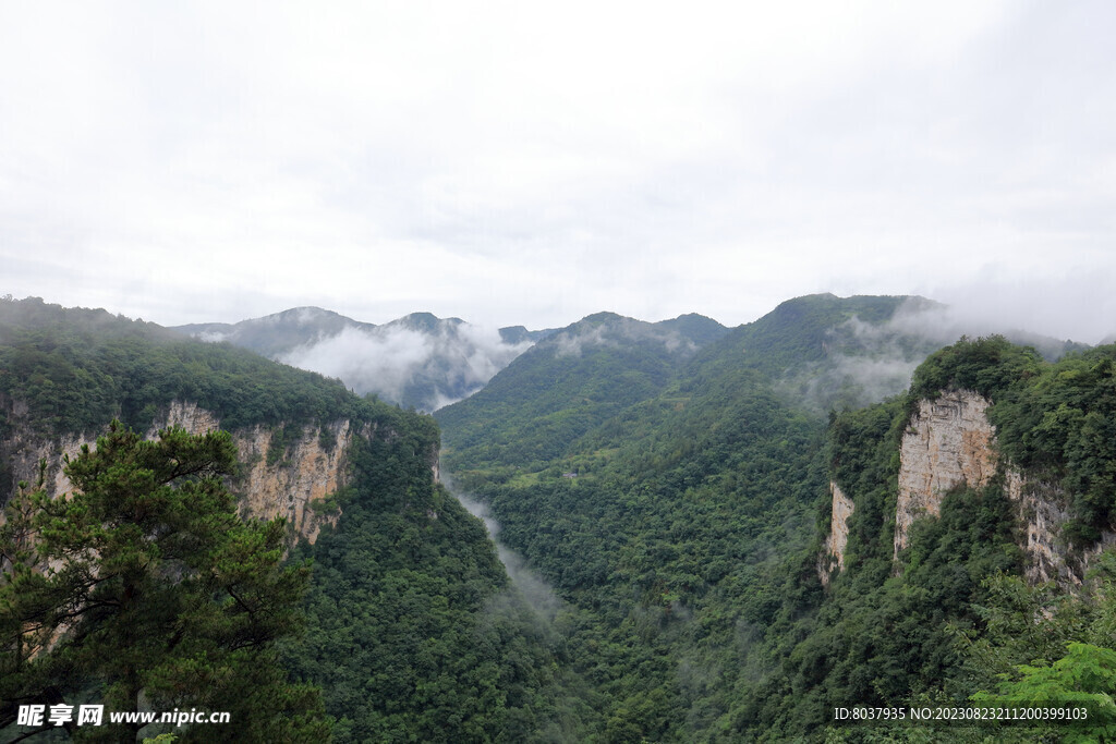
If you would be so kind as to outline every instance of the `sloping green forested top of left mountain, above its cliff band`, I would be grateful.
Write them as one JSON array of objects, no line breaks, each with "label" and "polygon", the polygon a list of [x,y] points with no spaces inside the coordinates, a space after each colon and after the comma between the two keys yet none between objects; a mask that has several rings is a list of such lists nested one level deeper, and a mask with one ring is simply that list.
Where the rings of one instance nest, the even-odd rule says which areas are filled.
[{"label": "sloping green forested top of left mountain, above its cliff band", "polygon": [[96,433],[113,417],[145,429],[175,399],[212,410],[230,429],[397,417],[334,380],[251,351],[36,299],[0,302],[0,394],[27,404],[31,425],[50,436]]}]

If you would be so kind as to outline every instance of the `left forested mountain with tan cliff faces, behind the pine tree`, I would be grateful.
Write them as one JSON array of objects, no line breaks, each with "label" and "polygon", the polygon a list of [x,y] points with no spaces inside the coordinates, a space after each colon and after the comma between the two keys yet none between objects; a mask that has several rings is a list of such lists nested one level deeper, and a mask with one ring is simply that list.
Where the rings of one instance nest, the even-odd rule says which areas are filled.
[{"label": "left forested mountain with tan cliff faces, behind the pine tree", "polygon": [[[114,650],[104,635],[105,629],[126,627],[116,624],[115,612],[96,609],[100,600],[93,597],[68,605],[76,607],[71,618],[77,621],[55,620],[61,617],[51,613],[55,606],[48,601],[55,583],[42,584],[38,593],[28,592],[39,581],[36,576],[49,576],[42,561],[61,560],[64,568],[70,564],[69,558],[36,552],[37,545],[52,550],[60,544],[49,537],[57,529],[50,526],[50,505],[67,503],[44,501],[33,493],[38,456],[41,453],[48,480],[44,496],[55,491],[56,483],[59,493],[69,491],[71,484],[97,493],[73,465],[64,465],[61,452],[70,452],[71,462],[81,462],[85,455],[78,445],[106,433],[114,417],[138,432],[175,423],[202,431],[217,424],[230,429],[232,439],[221,445],[225,453],[221,457],[232,447],[234,462],[225,485],[239,496],[244,524],[256,524],[260,516],[288,516],[286,529],[268,528],[272,537],[267,540],[279,539],[290,548],[289,566],[301,567],[304,559],[315,564],[308,574],[299,569],[302,579],[287,581],[296,603],[283,611],[297,610],[304,619],[290,616],[289,622],[283,620],[282,628],[267,636],[271,638],[269,664],[286,669],[279,679],[287,675],[289,684],[321,690],[305,698],[309,707],[300,711],[286,705],[277,694],[261,700],[258,695],[267,698],[270,689],[262,686],[254,694],[241,689],[233,698],[223,683],[218,684],[222,674],[232,674],[222,671],[222,659],[249,661],[246,651],[235,649],[246,642],[253,647],[264,636],[251,636],[256,641],[231,638],[231,645],[223,645],[223,636],[218,635],[223,631],[212,625],[217,620],[200,616],[196,620],[208,625],[198,626],[201,635],[191,635],[194,616],[173,609],[177,598],[186,601],[186,587],[182,584],[181,591],[169,588],[174,577],[185,580],[191,573],[173,564],[160,572],[161,563],[151,559],[137,566],[155,572],[152,580],[157,582],[151,586],[160,587],[165,596],[151,595],[145,600],[146,617],[136,627],[144,629],[148,650],[128,673],[131,679],[138,675],[129,689],[148,690],[148,699],[167,711],[172,706],[232,711],[237,725],[217,735],[238,741],[323,741],[320,725],[327,723],[323,702],[325,714],[337,719],[336,741],[519,741],[521,732],[555,732],[561,737],[569,728],[564,716],[576,717],[580,704],[567,704],[565,693],[550,689],[568,673],[556,664],[552,639],[508,587],[483,525],[436,483],[437,428],[430,417],[358,398],[339,383],[229,345],[186,340],[104,311],[6,300],[0,302],[0,462],[7,502],[0,529],[0,729],[6,740],[28,731],[16,726],[19,704],[108,702],[125,712],[143,705],[135,695],[131,702],[128,695],[114,697],[121,688],[114,686],[116,677],[104,661],[113,656],[124,659],[131,653],[126,645]],[[126,445],[134,446],[143,445]],[[185,442],[181,446],[196,445]],[[104,450],[107,457],[116,450],[124,452],[122,447],[104,439],[97,452]],[[127,457],[100,467],[119,473],[126,462]],[[182,483],[174,480],[179,476],[173,463],[184,463],[182,455],[172,455],[170,462],[171,486],[166,487],[194,487],[189,475]],[[227,470],[222,464],[213,472]],[[324,493],[323,481],[336,489]],[[183,493],[189,494],[189,489]],[[142,492],[137,495],[143,497]],[[304,506],[310,516],[294,520],[296,509],[300,512]],[[145,519],[153,519],[151,506],[147,513]],[[172,516],[152,523],[151,547],[144,550],[173,555],[167,552],[173,544],[194,544],[191,541],[200,539],[195,526],[180,524]],[[66,522],[73,519],[65,518]],[[134,516],[112,519],[127,524]],[[221,519],[235,519],[235,514]],[[230,529],[227,525],[222,533],[232,534]],[[87,554],[81,545],[76,549]],[[246,559],[257,555],[256,550],[263,551],[259,560],[279,554],[267,552],[262,544],[247,550]],[[230,559],[224,560],[222,570],[232,570]],[[106,566],[81,570],[115,581]],[[137,601],[136,592],[143,593],[140,584],[129,586],[126,595]],[[214,611],[225,613],[228,622],[241,622],[234,610],[251,601],[237,586],[211,590]],[[270,601],[278,601],[279,596],[276,591],[268,595]],[[29,603],[29,597],[44,599]],[[56,621],[60,625],[50,625]],[[70,630],[60,642],[51,644],[49,653],[28,656],[33,648],[25,632],[29,622],[47,624],[44,627],[55,632]],[[298,632],[299,627],[305,631]],[[94,657],[81,656],[83,649],[93,648],[93,637],[99,637],[104,648]],[[48,634],[44,642],[50,638]],[[204,638],[209,640],[203,642]],[[189,647],[184,639],[190,640]],[[162,649],[160,656],[156,648]],[[150,668],[144,666],[145,658]],[[206,665],[215,667],[210,670]],[[250,661],[247,667],[228,667],[241,668],[261,674],[273,667],[259,666],[259,661],[256,667]],[[186,684],[183,674],[193,682]],[[230,679],[262,684],[262,678],[251,683],[249,677]],[[156,688],[167,686],[179,692],[154,696]],[[298,727],[300,721],[312,725]],[[83,733],[88,732],[74,731],[75,736]],[[154,733],[144,729],[145,735]],[[177,728],[175,734],[189,741],[213,741],[214,736],[212,727],[203,726]]]}]

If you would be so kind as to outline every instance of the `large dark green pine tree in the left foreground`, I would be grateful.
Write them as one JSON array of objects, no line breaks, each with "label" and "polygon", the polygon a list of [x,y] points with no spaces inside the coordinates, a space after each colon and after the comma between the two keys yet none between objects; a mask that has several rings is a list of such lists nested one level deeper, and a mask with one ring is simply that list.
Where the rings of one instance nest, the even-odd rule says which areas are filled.
[{"label": "large dark green pine tree in the left foreground", "polygon": [[[243,742],[328,737],[318,692],[275,651],[300,629],[308,567],[282,567],[283,524],[246,523],[221,476],[228,434],[114,423],[67,465],[75,491],[21,493],[0,529],[0,726],[26,704],[225,711]],[[150,706],[150,707],[146,707]],[[138,724],[68,727],[135,738]],[[209,741],[203,726],[179,729]]]}]

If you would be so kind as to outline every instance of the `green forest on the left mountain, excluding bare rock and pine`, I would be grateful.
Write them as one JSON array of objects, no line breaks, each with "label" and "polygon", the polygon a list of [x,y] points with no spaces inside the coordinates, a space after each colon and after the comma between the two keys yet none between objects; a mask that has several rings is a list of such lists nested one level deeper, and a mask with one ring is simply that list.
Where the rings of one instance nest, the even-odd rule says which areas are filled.
[{"label": "green forest on the left mountain, excluding bare rock and pine", "polygon": [[[288,559],[314,568],[297,608],[305,612],[305,632],[282,640],[281,659],[292,682],[321,689],[325,711],[336,719],[335,741],[510,742],[531,732],[561,738],[575,726],[584,705],[567,702],[558,688],[568,674],[557,666],[555,639],[508,586],[480,521],[433,481],[430,457],[439,433],[432,418],[150,323],[38,300],[0,302],[4,464],[7,447],[25,446],[28,437],[95,435],[113,417],[146,431],[156,412],[176,399],[196,402],[232,429],[259,424],[282,435],[349,418],[355,429],[373,432],[353,445],[349,486],[326,505],[341,510],[336,529],[327,528],[315,545],[297,545]],[[18,441],[9,439],[17,434]],[[7,467],[3,475],[7,499],[15,484]],[[52,683],[37,673],[17,674],[27,664],[20,612],[37,610],[15,601],[29,595],[20,589],[20,574],[10,572],[17,545],[6,542],[11,540],[18,542],[19,533],[0,530],[0,728],[11,724],[6,740],[15,731],[17,700],[33,702],[42,689],[94,703],[108,694],[96,670],[70,668]],[[171,636],[148,636],[152,647],[172,642]],[[67,653],[69,642],[58,653]],[[46,675],[52,659],[39,657],[30,670],[41,667]],[[243,699],[249,705],[247,690]],[[205,702],[211,709],[220,703]],[[185,709],[200,703],[189,695],[175,700]],[[241,709],[232,702],[228,707]],[[176,733],[183,741],[202,734]]]}]

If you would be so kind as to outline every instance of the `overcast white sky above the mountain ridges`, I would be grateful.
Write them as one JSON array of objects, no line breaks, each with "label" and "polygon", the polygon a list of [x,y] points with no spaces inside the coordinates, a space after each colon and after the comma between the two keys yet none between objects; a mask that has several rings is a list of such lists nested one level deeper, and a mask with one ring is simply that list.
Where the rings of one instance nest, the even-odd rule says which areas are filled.
[{"label": "overcast white sky above the mountain ridges", "polygon": [[0,0],[0,294],[1116,331],[1116,3]]}]

